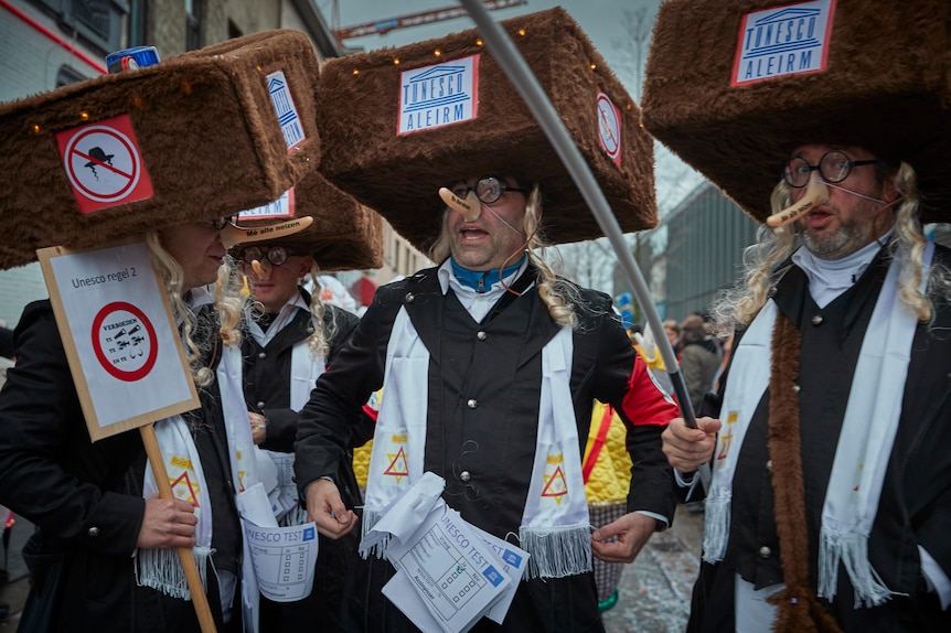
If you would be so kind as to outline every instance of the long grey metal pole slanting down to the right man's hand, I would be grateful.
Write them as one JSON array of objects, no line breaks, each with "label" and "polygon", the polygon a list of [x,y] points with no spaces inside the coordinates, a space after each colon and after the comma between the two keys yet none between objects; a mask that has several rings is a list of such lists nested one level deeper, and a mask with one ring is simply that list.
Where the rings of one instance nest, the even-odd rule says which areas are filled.
[{"label": "long grey metal pole slanting down to the right man's hand", "polygon": [[[641,275],[640,268],[634,264],[633,257],[630,251],[628,251],[621,226],[618,224],[618,219],[615,217],[615,214],[611,213],[611,210],[608,206],[608,201],[598,186],[591,170],[588,168],[584,157],[581,157],[581,152],[571,140],[568,130],[565,128],[558,114],[555,111],[554,106],[552,106],[552,101],[548,99],[547,95],[545,95],[545,92],[542,89],[535,75],[532,73],[531,68],[528,68],[524,57],[519,53],[519,50],[512,43],[507,33],[505,33],[505,31],[489,17],[489,12],[479,0],[460,0],[460,2],[466,7],[466,10],[469,11],[469,15],[471,15],[472,20],[476,22],[480,35],[485,40],[487,47],[492,51],[492,56],[495,57],[499,65],[503,71],[505,71],[509,78],[512,79],[512,83],[515,85],[519,94],[522,95],[528,109],[532,110],[532,114],[538,120],[538,125],[542,126],[542,130],[545,132],[545,136],[548,137],[548,140],[555,148],[562,162],[571,174],[575,184],[585,197],[585,202],[588,203],[588,207],[591,210],[591,213],[595,214],[595,219],[598,222],[598,226],[601,227],[601,232],[603,232],[605,236],[607,236],[613,247],[618,256],[618,262],[624,271],[624,275],[627,275],[628,280],[633,286],[634,294],[637,294],[638,301],[648,318],[648,324],[650,325],[651,331],[655,334],[658,347],[664,360],[664,365],[667,367],[671,383],[674,386],[674,394],[677,397],[681,415],[688,427],[696,428],[696,416],[694,415],[693,406],[691,405],[683,374],[681,374],[677,358],[674,355],[670,341],[667,341],[666,336],[662,335],[664,331],[663,324],[653,302],[651,301],[651,293],[648,285]],[[698,472],[704,489],[708,490],[710,478],[709,466],[704,464],[701,466]]]}]

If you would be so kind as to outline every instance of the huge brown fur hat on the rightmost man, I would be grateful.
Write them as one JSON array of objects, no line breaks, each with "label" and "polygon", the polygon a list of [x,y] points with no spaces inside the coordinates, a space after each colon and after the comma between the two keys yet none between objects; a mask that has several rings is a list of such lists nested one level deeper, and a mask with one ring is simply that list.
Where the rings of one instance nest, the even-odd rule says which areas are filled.
[{"label": "huge brown fur hat on the rightmost man", "polygon": [[[949,15],[947,0],[670,0],[644,126],[760,222],[790,152],[815,142],[907,161],[922,219],[947,222]],[[783,74],[800,67],[812,72]]]}]

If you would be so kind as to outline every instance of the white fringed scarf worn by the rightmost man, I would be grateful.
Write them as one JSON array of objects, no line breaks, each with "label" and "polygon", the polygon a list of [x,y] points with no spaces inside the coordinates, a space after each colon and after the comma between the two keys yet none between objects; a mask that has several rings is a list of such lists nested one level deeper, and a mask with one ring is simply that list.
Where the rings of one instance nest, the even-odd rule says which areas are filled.
[{"label": "white fringed scarf worn by the rightmost man", "polygon": [[[922,257],[922,292],[933,251],[929,242]],[[899,261],[893,259],[863,339],[822,508],[818,596],[833,600],[842,562],[856,604],[865,607],[881,604],[894,593],[868,561],[868,535],[898,430],[918,326],[917,315],[898,298],[899,270]],[[750,418],[769,385],[776,315],[776,303],[767,301],[734,352],[706,502],[704,561],[709,564],[726,554],[734,473]]]}]

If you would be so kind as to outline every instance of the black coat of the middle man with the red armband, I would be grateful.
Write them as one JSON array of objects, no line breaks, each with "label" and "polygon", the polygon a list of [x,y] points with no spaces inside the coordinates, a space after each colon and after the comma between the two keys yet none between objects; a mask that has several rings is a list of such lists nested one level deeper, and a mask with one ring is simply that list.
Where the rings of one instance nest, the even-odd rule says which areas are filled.
[{"label": "black coat of the middle man with the red armband", "polygon": [[[581,324],[574,333],[570,388],[583,442],[595,398],[617,405],[623,416],[621,400],[635,355],[612,318],[609,298],[579,292],[587,308],[579,310]],[[301,411],[296,448],[299,485],[333,475],[360,406],[383,385],[391,331],[405,307],[430,356],[424,468],[446,480],[444,497],[464,519],[502,538],[517,534],[535,452],[541,354],[558,325],[536,289],[517,299],[505,297],[500,300],[506,303],[504,309],[476,323],[453,292],[442,294],[436,269],[377,289],[350,344]],[[469,398],[478,405],[472,407]],[[629,507],[671,517],[673,497],[664,490],[671,470],[660,451],[661,431],[654,425],[629,426],[628,443],[637,464]],[[584,444],[578,450],[584,451]],[[466,481],[460,476],[463,471]],[[389,564],[371,558],[362,571],[353,587],[355,630],[414,631],[380,596],[392,573]],[[495,627],[483,620],[476,630]],[[592,575],[522,582],[500,630],[601,630]]]}]

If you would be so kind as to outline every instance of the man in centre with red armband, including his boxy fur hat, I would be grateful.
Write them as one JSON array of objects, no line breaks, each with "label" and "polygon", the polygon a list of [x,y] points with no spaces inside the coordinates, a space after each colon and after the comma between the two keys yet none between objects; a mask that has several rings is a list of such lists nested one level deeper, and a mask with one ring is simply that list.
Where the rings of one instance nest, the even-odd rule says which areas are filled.
[{"label": "man in centre with red armband, including his boxy fur hat", "polygon": [[[583,104],[576,119],[579,144],[602,186],[618,196],[615,208],[622,223],[629,229],[652,224],[638,217],[653,208],[650,174],[633,173],[650,163],[650,146],[641,144],[647,139],[637,126],[637,108],[603,60],[562,10],[505,25],[531,34],[519,42],[530,63],[558,58],[564,73],[555,92]],[[553,51],[553,42],[568,41],[568,50]],[[445,66],[425,68],[432,50],[446,54]],[[393,56],[400,62],[396,68]],[[393,137],[392,126],[384,124],[399,95],[383,87],[394,85],[386,75],[410,68],[404,79],[412,83],[408,77],[417,71],[435,77],[458,73],[460,64],[478,65],[478,117],[420,135],[409,128],[426,119],[410,111],[407,130]],[[352,81],[354,68],[368,84]],[[567,77],[577,83],[563,81]],[[452,81],[466,94],[477,92],[468,84],[476,82],[474,73]],[[355,527],[356,516],[341,503],[333,472],[361,406],[383,387],[364,534],[392,501],[431,471],[445,480],[442,498],[464,521],[531,555],[503,624],[483,619],[474,630],[601,631],[591,554],[629,562],[655,529],[670,524],[672,495],[663,486],[671,471],[660,452],[660,433],[676,408],[651,379],[610,298],[556,277],[539,255],[543,232],[562,242],[599,233],[524,104],[506,86],[472,31],[322,68],[321,142],[334,157],[323,173],[380,208],[438,266],[377,289],[350,343],[301,411],[297,480],[320,530],[340,536]],[[619,128],[612,138],[622,133],[628,143],[617,162],[596,138],[597,88],[606,108],[612,101],[629,106],[615,111]],[[400,90],[404,97],[413,94],[412,85],[407,90]],[[361,111],[352,100],[370,97],[378,104],[375,111]],[[509,126],[531,133],[515,142]],[[377,128],[391,136],[371,143]],[[367,142],[352,137],[360,130],[370,135]],[[427,155],[412,160],[420,143]],[[359,149],[339,151],[343,144]],[[366,179],[394,155],[398,168]],[[621,182],[623,170],[631,176]],[[647,200],[639,197],[643,194]],[[628,512],[592,535],[581,454],[595,398],[612,404],[624,420],[634,468]],[[359,571],[353,626],[415,630],[380,593],[393,575],[389,562],[374,554]]]}]

